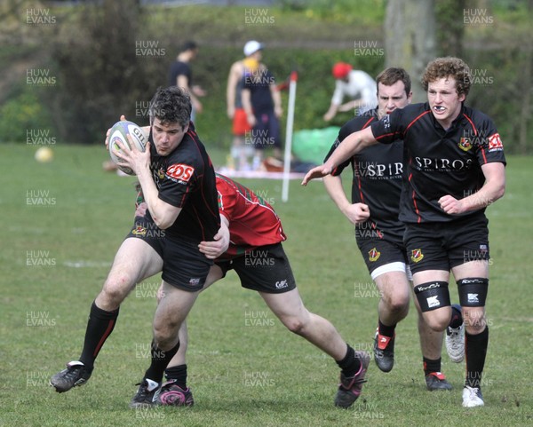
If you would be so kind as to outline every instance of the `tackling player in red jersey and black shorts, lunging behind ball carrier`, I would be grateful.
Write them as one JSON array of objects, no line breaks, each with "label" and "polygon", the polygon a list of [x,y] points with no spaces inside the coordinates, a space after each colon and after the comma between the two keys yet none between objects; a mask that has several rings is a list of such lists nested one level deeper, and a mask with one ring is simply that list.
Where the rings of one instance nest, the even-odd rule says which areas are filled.
[{"label": "tackling player in red jersey and black shorts, lunging behind ball carrier", "polygon": [[[219,174],[217,191],[220,218],[229,229],[230,243],[225,253],[220,251],[223,249],[218,241],[201,243],[200,250],[207,257],[216,258],[203,289],[222,279],[227,271],[235,270],[243,288],[258,291],[285,327],[336,360],[341,373],[335,405],[352,406],[361,394],[370,355],[355,352],[329,320],[307,311],[282,248],[282,241],[286,240],[282,223],[272,206],[250,188]],[[142,209],[137,211],[137,215],[142,214]],[[192,392],[187,388],[185,327],[179,330],[179,342],[179,352],[169,363],[171,368],[162,368],[153,357],[131,407],[194,404]],[[163,370],[172,379],[162,386]]]}]

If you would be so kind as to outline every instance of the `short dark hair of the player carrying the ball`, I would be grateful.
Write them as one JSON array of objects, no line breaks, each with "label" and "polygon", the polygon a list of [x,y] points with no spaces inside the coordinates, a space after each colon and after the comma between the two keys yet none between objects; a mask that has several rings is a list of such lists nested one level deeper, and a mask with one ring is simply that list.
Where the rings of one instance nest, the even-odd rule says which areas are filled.
[{"label": "short dark hair of the player carrying the ball", "polygon": [[163,124],[179,123],[185,129],[191,119],[191,108],[187,91],[178,86],[160,87],[148,108],[150,124],[154,124],[154,119],[157,118]]}]

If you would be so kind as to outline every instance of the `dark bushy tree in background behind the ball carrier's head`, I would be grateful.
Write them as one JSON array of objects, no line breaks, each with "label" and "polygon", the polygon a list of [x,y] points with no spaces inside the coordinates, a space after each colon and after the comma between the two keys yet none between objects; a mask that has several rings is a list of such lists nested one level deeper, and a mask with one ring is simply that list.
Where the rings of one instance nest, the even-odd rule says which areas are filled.
[{"label": "dark bushy tree in background behind the ball carrier's head", "polygon": [[58,90],[48,107],[61,139],[94,143],[152,94],[150,61],[136,56],[142,13],[137,0],[102,0],[78,6],[70,19],[52,44]]}]

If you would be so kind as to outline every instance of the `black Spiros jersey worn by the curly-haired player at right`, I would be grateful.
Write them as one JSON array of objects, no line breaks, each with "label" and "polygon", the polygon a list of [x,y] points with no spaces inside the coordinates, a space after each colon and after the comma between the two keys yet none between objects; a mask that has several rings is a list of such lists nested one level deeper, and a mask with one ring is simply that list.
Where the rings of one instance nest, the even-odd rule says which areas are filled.
[{"label": "black Spiros jersey worn by the curly-haired player at right", "polygon": [[485,182],[481,165],[505,164],[504,146],[489,116],[463,106],[444,130],[426,102],[394,110],[370,126],[379,142],[404,142],[407,180],[400,208],[403,222],[448,222],[483,213],[484,209],[449,215],[438,201],[447,194],[456,199],[474,194]]}]

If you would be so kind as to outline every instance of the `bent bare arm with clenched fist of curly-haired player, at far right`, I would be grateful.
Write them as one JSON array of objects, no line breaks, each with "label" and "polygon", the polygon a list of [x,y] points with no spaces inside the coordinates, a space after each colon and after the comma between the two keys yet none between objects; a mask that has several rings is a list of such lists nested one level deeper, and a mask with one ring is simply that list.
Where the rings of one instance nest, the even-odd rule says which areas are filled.
[{"label": "bent bare arm with clenched fist of curly-haired player, at far right", "polygon": [[481,165],[481,170],[485,176],[485,184],[480,191],[459,200],[449,194],[442,196],[439,204],[444,212],[452,215],[481,210],[503,197],[505,194],[504,163],[485,163]]}]

